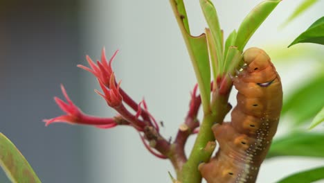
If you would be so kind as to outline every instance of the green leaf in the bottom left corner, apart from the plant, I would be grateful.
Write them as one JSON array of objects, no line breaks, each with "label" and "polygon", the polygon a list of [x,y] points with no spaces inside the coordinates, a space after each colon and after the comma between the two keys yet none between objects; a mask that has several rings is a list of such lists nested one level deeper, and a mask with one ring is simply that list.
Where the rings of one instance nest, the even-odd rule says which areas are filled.
[{"label": "green leaf in the bottom left corner, apart from the plant", "polygon": [[0,133],[0,166],[11,182],[40,182],[25,157],[2,133]]}]

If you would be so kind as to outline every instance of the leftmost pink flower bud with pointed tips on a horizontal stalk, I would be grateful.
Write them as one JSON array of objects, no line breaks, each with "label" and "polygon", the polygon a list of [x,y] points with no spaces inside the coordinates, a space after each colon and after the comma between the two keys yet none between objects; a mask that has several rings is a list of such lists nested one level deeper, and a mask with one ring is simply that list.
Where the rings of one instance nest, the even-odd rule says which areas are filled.
[{"label": "leftmost pink flower bud with pointed tips on a horizontal stalk", "polygon": [[71,124],[82,124],[82,125],[94,125],[98,128],[113,128],[117,125],[115,119],[111,118],[99,118],[96,116],[89,116],[84,114],[69,98],[66,94],[66,90],[61,85],[62,94],[64,95],[66,102],[60,98],[55,97],[54,100],[57,105],[61,108],[65,115],[57,116],[53,119],[44,119],[46,126],[51,123],[63,122]]}]

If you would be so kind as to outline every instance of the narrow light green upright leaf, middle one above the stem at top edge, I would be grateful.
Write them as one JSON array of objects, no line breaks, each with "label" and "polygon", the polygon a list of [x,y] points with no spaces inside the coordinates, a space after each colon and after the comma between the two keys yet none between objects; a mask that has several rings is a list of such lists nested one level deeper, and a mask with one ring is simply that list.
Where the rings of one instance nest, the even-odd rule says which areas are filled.
[{"label": "narrow light green upright leaf, middle one above the stem at top edge", "polygon": [[[200,6],[201,9],[204,12],[205,19],[207,21],[207,24],[210,28],[210,32],[213,35],[213,40],[215,43],[214,49],[216,51],[216,58],[219,65],[219,68],[222,68],[222,62],[223,62],[223,34],[222,30],[219,26],[219,21],[217,17],[216,9],[213,5],[213,3],[209,0],[200,0]],[[222,73],[222,71],[219,71],[218,73]],[[216,77],[214,75],[214,80],[216,80]]]}]

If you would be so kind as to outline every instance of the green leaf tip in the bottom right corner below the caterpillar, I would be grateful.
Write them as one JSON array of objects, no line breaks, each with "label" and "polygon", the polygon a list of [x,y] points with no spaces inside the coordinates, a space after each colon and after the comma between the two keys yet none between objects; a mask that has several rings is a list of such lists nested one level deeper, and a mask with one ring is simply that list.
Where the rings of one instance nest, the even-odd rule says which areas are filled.
[{"label": "green leaf tip in the bottom right corner below the caterpillar", "polygon": [[277,183],[305,183],[324,179],[324,166],[289,175]]}]

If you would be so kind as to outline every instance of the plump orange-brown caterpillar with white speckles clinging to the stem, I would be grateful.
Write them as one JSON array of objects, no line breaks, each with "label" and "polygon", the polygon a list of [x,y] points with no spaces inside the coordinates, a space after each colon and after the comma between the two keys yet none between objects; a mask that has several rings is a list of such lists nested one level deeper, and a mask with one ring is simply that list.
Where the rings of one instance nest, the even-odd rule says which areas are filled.
[{"label": "plump orange-brown caterpillar with white speckles clinging to the stem", "polygon": [[251,48],[243,53],[246,66],[233,78],[237,105],[231,122],[213,125],[219,150],[199,171],[208,183],[255,182],[276,134],[282,108],[280,77],[269,55]]}]

